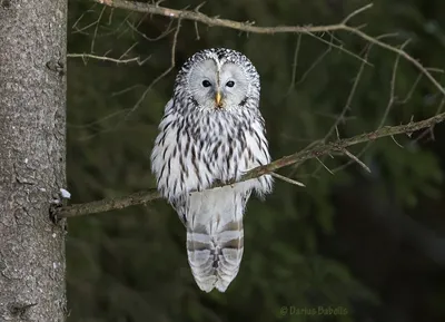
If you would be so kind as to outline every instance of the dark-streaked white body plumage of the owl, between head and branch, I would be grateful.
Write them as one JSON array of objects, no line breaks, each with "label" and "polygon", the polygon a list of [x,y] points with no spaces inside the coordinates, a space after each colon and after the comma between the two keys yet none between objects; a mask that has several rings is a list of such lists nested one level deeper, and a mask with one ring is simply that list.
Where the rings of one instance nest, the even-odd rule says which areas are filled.
[{"label": "dark-streaked white body plumage of the owl, between head and branch", "polygon": [[[172,202],[218,182],[239,178],[270,162],[264,119],[257,114],[180,114],[170,100],[151,153],[158,189]],[[264,195],[273,179],[264,175],[238,185]]]}]

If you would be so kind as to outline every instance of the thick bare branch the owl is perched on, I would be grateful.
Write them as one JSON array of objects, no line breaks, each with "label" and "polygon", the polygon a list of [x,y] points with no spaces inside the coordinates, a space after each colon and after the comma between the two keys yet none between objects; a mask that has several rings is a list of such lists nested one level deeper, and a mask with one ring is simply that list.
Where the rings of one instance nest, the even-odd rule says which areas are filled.
[{"label": "thick bare branch the owl is perched on", "polygon": [[[424,119],[424,120],[419,120],[419,121],[409,121],[408,124],[399,125],[399,126],[385,126],[385,127],[378,128],[375,131],[365,133],[365,134],[357,135],[357,136],[354,136],[350,138],[335,140],[335,142],[330,142],[330,143],[326,143],[326,144],[319,143],[318,145],[314,145],[312,148],[303,149],[301,152],[297,152],[293,155],[281,157],[279,159],[274,160],[273,163],[270,163],[268,165],[256,167],[256,168],[247,172],[238,182],[244,182],[244,180],[248,180],[251,178],[256,178],[261,175],[275,172],[285,166],[296,164],[296,163],[303,163],[303,162],[312,159],[312,158],[318,158],[319,156],[327,155],[330,153],[335,153],[335,152],[345,153],[346,147],[357,145],[360,143],[375,140],[375,139],[382,138],[382,137],[394,136],[397,134],[411,135],[412,133],[414,133],[416,130],[424,129],[424,128],[431,128],[431,127],[435,126],[436,124],[442,123],[444,120],[445,120],[445,113],[442,113],[442,114],[433,116],[428,119]],[[233,185],[234,183],[235,182],[230,182],[225,185]],[[216,186],[212,186],[211,188],[216,188],[216,187],[220,187],[220,186],[224,186],[224,185],[216,185]],[[88,215],[88,214],[93,214],[93,213],[108,212],[108,211],[112,211],[112,209],[121,209],[121,208],[129,207],[132,205],[146,204],[148,202],[151,202],[151,201],[158,199],[158,198],[160,198],[158,192],[155,188],[152,188],[149,191],[138,192],[138,193],[122,196],[122,197],[106,198],[106,199],[86,203],[86,204],[73,204],[73,205],[69,205],[69,206],[63,206],[60,208],[56,208],[55,215],[59,218],[76,217],[76,216]]]}]

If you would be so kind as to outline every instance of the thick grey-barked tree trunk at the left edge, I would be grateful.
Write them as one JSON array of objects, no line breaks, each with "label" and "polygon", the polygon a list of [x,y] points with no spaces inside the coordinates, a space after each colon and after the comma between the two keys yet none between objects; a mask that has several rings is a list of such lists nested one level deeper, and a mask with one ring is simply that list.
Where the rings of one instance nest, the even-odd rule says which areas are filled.
[{"label": "thick grey-barked tree trunk at the left edge", "polygon": [[0,321],[66,320],[66,0],[0,0]]}]

